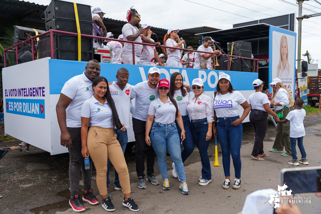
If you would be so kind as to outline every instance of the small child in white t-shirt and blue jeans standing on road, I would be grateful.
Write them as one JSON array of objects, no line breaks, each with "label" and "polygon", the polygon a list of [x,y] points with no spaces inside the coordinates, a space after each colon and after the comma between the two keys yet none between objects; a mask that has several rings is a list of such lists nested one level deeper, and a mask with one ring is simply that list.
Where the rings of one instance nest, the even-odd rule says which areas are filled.
[{"label": "small child in white t-shirt and blue jeans standing on road", "polygon": [[[305,135],[303,119],[306,116],[305,110],[301,109],[303,106],[303,99],[297,98],[294,102],[294,110],[290,111],[284,120],[276,120],[277,123],[286,123],[289,120],[290,123],[290,142],[291,142],[291,152],[292,152],[292,160],[289,160],[289,164],[293,164],[294,166],[298,166],[299,163],[304,165],[308,165],[307,154],[305,153],[303,147],[303,137]],[[296,151],[296,142],[298,140],[298,147],[301,152],[301,159],[298,161],[297,151]]]}]

